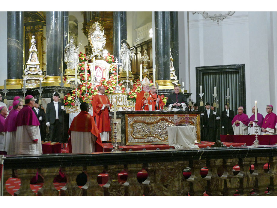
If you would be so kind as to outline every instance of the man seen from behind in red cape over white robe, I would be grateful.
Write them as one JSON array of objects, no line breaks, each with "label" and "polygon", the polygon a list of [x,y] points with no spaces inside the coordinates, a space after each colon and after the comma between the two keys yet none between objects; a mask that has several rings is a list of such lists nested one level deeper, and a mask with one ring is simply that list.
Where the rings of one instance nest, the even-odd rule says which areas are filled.
[{"label": "man seen from behind in red cape over white robe", "polygon": [[86,102],[80,105],[81,112],[73,119],[69,134],[70,153],[103,152],[103,145],[95,122],[88,113],[89,106]]}]

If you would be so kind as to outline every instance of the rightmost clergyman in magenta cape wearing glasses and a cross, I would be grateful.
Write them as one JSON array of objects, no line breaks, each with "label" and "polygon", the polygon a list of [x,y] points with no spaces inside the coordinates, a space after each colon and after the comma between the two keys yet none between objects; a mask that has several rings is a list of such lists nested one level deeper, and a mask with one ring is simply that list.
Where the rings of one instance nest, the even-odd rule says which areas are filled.
[{"label": "rightmost clergyman in magenta cape wearing glasses and a cross", "polygon": [[277,116],[273,113],[273,106],[267,105],[266,107],[267,115],[264,117],[263,125],[262,125],[262,135],[269,134],[274,135],[276,130],[275,126],[277,123]]}]

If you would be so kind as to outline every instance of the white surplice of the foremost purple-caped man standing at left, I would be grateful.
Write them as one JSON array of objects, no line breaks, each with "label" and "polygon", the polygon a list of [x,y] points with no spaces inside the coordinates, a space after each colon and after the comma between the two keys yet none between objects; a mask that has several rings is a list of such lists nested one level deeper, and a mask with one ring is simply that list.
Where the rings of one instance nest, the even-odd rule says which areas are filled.
[{"label": "white surplice of the foremost purple-caped man standing at left", "polygon": [[[33,140],[38,139],[37,143]],[[16,128],[15,154],[42,154],[39,126],[22,125]]]}]

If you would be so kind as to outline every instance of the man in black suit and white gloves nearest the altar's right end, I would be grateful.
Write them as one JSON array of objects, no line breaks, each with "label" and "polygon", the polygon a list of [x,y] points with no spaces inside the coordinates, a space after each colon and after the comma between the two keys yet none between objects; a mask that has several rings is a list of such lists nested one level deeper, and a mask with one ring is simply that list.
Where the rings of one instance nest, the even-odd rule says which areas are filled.
[{"label": "man in black suit and white gloves nearest the altar's right end", "polygon": [[203,116],[203,127],[204,127],[204,141],[215,142],[214,127],[216,120],[216,112],[210,109],[210,103],[205,104],[205,113]]}]

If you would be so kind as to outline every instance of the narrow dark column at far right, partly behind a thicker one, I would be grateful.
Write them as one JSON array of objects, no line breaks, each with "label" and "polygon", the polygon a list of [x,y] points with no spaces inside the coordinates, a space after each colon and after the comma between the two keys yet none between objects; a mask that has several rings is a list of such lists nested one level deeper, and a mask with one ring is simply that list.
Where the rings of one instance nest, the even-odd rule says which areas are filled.
[{"label": "narrow dark column at far right, partly behind a thicker one", "polygon": [[170,12],[170,48],[174,59],[173,66],[177,80],[179,80],[179,35],[178,35],[178,12]]}]

